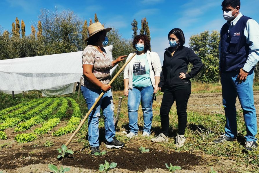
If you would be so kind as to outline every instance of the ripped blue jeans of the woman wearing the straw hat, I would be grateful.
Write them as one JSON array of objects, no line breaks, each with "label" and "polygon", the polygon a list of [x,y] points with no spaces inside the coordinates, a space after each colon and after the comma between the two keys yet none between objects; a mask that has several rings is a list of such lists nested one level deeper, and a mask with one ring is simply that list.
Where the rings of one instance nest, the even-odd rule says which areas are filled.
[{"label": "ripped blue jeans of the woman wearing the straw hat", "polygon": [[[101,94],[101,89],[93,89],[81,86],[81,91],[88,110],[92,107],[95,100]],[[112,100],[111,90],[104,93],[103,97],[96,104],[88,117],[88,141],[91,147],[99,146],[99,117],[102,109],[104,115],[105,139],[107,142],[112,142],[115,136],[114,127],[114,104]]]}]

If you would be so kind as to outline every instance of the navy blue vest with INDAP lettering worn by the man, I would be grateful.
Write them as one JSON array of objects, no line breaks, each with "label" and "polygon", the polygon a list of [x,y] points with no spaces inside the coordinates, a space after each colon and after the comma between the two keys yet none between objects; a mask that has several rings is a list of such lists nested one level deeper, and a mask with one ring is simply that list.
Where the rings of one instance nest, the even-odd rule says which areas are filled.
[{"label": "navy blue vest with INDAP lettering worn by the man", "polygon": [[245,65],[249,54],[249,46],[244,35],[247,20],[250,17],[242,16],[236,25],[229,31],[230,23],[227,22],[220,32],[220,70],[237,71]]}]

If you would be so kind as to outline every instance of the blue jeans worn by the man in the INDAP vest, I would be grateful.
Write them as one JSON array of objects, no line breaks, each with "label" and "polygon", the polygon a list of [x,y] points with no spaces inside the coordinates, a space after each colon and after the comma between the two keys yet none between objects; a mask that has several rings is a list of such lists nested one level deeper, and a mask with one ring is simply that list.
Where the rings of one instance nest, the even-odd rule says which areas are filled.
[{"label": "blue jeans worn by the man in the INDAP vest", "polygon": [[225,109],[225,134],[231,138],[237,135],[236,96],[238,96],[244,114],[247,141],[256,141],[257,122],[256,109],[253,100],[253,70],[245,82],[238,83],[239,71],[222,73],[222,102]]}]

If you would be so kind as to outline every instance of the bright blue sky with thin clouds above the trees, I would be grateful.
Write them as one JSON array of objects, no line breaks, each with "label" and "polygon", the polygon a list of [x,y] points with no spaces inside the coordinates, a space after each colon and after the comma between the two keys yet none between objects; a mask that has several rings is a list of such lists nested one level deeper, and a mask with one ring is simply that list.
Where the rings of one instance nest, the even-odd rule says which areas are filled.
[{"label": "bright blue sky with thin clouds above the trees", "polygon": [[[115,1],[56,1],[56,0],[1,0],[0,25],[1,31],[11,30],[15,17],[25,22],[26,35],[30,34],[30,26],[36,26],[37,16],[41,8],[58,11],[72,10],[81,19],[98,19],[105,26],[114,26],[124,38],[132,37],[131,22],[147,18],[152,51],[163,58],[164,49],[169,46],[167,34],[173,28],[181,28],[185,34],[186,43],[191,35],[204,30],[220,30],[226,22],[222,17],[222,0],[115,0]],[[259,0],[241,0],[240,12],[259,22]]]}]

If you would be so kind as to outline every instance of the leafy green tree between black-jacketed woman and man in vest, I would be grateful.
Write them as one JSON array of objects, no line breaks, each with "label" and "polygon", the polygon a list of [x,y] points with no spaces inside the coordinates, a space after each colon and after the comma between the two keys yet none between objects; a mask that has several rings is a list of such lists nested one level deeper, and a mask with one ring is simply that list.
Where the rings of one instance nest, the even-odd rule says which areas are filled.
[{"label": "leafy green tree between black-jacketed woman and man in vest", "polygon": [[[192,35],[189,39],[190,48],[200,57],[204,66],[195,76],[195,80],[201,82],[218,82],[218,45],[220,42],[220,33],[216,30],[209,33],[204,31],[197,35]],[[189,66],[191,68],[191,66]],[[189,69],[190,69],[189,68]]]}]

